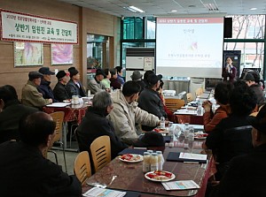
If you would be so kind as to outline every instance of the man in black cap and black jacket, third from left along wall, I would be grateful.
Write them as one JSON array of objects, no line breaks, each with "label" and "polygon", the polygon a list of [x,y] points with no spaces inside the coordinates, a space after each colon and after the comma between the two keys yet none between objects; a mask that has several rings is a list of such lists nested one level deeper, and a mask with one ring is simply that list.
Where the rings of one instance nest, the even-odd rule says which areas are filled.
[{"label": "man in black cap and black jacket, third from left along wall", "polygon": [[63,102],[66,99],[70,99],[70,95],[68,95],[66,91],[66,83],[69,81],[69,74],[65,71],[59,71],[56,75],[59,82],[53,88],[53,95],[56,100],[59,102]]}]

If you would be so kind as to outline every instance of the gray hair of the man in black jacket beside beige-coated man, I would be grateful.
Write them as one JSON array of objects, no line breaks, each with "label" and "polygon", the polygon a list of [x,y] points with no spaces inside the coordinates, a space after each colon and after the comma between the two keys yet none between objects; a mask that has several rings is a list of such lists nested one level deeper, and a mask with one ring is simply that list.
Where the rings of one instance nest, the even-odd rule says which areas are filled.
[{"label": "gray hair of the man in black jacket beside beige-coated man", "polygon": [[95,110],[106,110],[106,108],[113,104],[111,95],[106,91],[96,93],[92,99],[92,106]]}]

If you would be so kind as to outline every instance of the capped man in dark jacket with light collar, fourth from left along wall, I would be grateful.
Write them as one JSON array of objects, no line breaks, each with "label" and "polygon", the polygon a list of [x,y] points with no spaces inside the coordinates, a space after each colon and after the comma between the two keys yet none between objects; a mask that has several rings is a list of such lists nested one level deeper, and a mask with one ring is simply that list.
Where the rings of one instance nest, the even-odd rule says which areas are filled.
[{"label": "capped man in dark jacket with light collar, fourth from left along wall", "polygon": [[78,95],[79,97],[86,96],[86,92],[84,90],[84,87],[82,86],[82,82],[80,81],[80,74],[75,69],[75,67],[70,67],[68,69],[68,72],[70,73],[70,80],[66,84],[66,91],[69,96]]}]

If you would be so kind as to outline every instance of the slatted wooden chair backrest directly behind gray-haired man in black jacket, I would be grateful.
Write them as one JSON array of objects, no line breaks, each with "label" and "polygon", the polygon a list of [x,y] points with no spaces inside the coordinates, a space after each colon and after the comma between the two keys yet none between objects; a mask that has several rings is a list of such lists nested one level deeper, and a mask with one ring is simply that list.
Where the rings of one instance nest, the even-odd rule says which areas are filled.
[{"label": "slatted wooden chair backrest directly behind gray-haired man in black jacket", "polygon": [[90,144],[90,154],[95,172],[111,162],[110,137],[103,135],[93,140]]}]

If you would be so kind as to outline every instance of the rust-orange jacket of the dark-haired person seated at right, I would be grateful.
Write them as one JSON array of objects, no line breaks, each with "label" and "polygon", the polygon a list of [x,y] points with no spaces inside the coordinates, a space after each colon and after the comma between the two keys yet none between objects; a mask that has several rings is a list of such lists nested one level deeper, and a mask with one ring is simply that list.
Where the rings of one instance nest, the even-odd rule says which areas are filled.
[{"label": "rust-orange jacket of the dark-haired person seated at right", "polygon": [[230,106],[223,105],[220,106],[217,110],[215,110],[215,114],[212,111],[205,112],[203,114],[203,125],[205,132],[209,133],[215,129],[215,126],[220,123],[220,121],[227,117],[230,113]]}]

